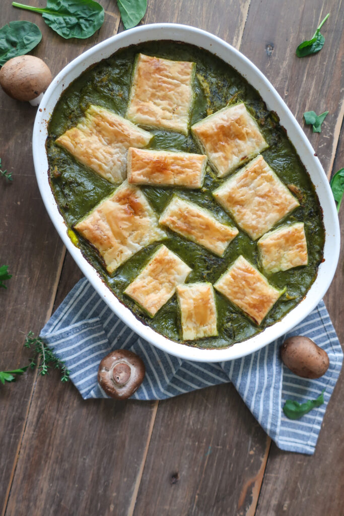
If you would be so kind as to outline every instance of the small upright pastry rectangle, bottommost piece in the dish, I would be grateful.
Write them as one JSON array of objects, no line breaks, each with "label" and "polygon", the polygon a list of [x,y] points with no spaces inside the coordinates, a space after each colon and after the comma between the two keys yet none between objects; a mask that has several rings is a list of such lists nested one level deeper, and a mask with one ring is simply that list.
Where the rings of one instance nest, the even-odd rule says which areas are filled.
[{"label": "small upright pastry rectangle, bottommost piece in the dish", "polygon": [[188,283],[176,288],[184,341],[213,337],[217,331],[214,289],[211,283]]}]

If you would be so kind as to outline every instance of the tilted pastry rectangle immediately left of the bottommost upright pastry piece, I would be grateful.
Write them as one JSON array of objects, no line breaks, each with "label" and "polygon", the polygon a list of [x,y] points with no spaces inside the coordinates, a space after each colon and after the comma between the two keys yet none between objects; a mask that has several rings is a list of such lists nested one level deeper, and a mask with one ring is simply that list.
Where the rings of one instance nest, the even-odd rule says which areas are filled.
[{"label": "tilted pastry rectangle immediately left of the bottommost upright pastry piece", "polygon": [[179,256],[162,245],[124,293],[154,317],[191,270]]}]

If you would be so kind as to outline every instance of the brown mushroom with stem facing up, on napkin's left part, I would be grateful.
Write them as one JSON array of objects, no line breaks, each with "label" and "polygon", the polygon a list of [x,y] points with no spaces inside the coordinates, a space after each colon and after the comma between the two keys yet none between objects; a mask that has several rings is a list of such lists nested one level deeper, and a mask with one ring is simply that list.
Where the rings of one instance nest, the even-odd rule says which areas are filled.
[{"label": "brown mushroom with stem facing up, on napkin's left part", "polygon": [[141,385],[144,374],[144,363],[137,354],[126,349],[116,349],[99,364],[98,382],[111,398],[126,399]]}]

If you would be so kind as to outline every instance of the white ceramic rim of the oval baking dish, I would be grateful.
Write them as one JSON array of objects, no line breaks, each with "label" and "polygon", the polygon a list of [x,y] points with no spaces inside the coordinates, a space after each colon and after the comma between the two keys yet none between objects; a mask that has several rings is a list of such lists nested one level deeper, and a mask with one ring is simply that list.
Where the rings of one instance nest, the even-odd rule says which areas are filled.
[{"label": "white ceramic rim of the oval baking dish", "polygon": [[[143,41],[152,40],[175,40],[191,43],[216,54],[224,61],[230,63],[248,82],[258,90],[268,109],[275,111],[280,117],[281,124],[285,127],[290,140],[296,148],[303,164],[305,165],[310,178],[312,179],[320,200],[324,215],[325,246],[324,261],[319,266],[318,276],[310,287],[305,298],[292,309],[282,320],[273,326],[266,328],[263,332],[255,335],[244,342],[235,344],[225,349],[198,349],[184,344],[178,344],[155,332],[149,326],[140,322],[135,315],[126,308],[103,283],[96,270],[90,265],[81,251],[76,248],[67,234],[67,227],[58,211],[50,184],[48,182],[48,162],[45,152],[45,139],[47,137],[47,122],[54,110],[62,91],[84,72],[93,63],[100,61],[116,52],[122,47],[137,44]],[[154,346],[187,360],[204,362],[220,362],[243,357],[256,351],[277,337],[285,334],[306,317],[321,300],[333,279],[338,257],[340,233],[339,223],[329,182],[323,168],[316,157],[315,152],[304,135],[301,127],[293,117],[279,93],[269,83],[267,78],[253,65],[245,56],[240,54],[231,45],[225,43],[216,36],[204,30],[178,24],[153,24],[143,25],[127,30],[113,36],[102,43],[92,47],[84,54],[74,59],[69,65],[55,77],[44,94],[37,112],[34,134],[32,139],[34,153],[34,164],[37,181],[42,195],[43,202],[48,215],[53,221],[57,232],[63,240],[64,245],[73,256],[75,262],[83,271],[84,275],[91,282],[93,287],[126,325],[132,328],[138,335]]]}]

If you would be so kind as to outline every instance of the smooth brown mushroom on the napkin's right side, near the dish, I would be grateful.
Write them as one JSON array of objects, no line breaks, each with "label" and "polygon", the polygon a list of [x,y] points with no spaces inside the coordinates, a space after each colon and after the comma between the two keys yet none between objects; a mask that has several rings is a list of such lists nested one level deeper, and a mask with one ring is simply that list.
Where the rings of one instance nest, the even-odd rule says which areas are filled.
[{"label": "smooth brown mushroom on the napkin's right side, near the dish", "polygon": [[302,378],[320,378],[329,368],[330,359],[312,339],[297,335],[287,338],[281,346],[283,363]]}]

